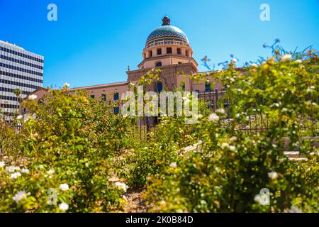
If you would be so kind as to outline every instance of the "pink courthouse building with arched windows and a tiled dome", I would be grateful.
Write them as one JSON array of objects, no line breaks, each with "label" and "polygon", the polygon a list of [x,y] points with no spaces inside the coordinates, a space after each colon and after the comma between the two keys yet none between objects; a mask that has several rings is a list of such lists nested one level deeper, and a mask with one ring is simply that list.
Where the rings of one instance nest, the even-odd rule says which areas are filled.
[{"label": "pink courthouse building with arched windows and a tiled dome", "polygon": [[[214,83],[214,89],[211,91],[209,84],[201,82],[197,84],[192,82],[187,75],[198,74],[198,63],[193,58],[193,50],[187,35],[181,29],[172,26],[170,19],[165,16],[162,19],[162,26],[156,28],[146,38],[145,46],[142,49],[142,61],[137,70],[126,72],[128,79],[125,82],[116,82],[111,84],[99,84],[87,87],[78,87],[69,90],[86,89],[88,94],[94,99],[121,100],[121,94],[128,90],[130,83],[135,83],[153,68],[160,68],[159,81],[153,84],[151,90],[161,92],[163,89],[172,91],[180,88],[184,81],[184,89],[189,92],[211,92],[221,91],[223,88],[220,83]],[[213,79],[208,72],[208,80]],[[185,77],[186,75],[186,77]],[[39,88],[33,92],[40,100],[47,93],[47,89]],[[118,108],[114,109],[117,113]]]}]

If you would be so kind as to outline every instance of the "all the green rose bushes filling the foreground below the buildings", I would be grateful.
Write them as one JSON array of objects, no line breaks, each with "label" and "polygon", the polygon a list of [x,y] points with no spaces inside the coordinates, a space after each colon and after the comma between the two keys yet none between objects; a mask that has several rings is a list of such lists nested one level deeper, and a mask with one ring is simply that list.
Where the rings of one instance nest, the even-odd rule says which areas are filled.
[{"label": "all the green rose bushes filling the foreground below the buildings", "polygon": [[[147,91],[158,75],[137,85]],[[122,211],[128,184],[145,189],[150,211],[317,212],[319,150],[301,137],[319,134],[318,57],[275,55],[244,72],[233,61],[213,76],[225,85],[214,113],[200,102],[198,123],[161,117],[145,136],[136,130],[140,117],[114,115],[118,103],[84,91],[65,86],[42,104],[23,101],[30,115],[16,118],[20,131],[0,121],[0,211]],[[239,130],[262,116],[268,130]],[[302,160],[286,157],[286,141]]]}]

